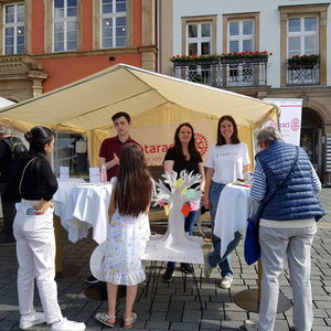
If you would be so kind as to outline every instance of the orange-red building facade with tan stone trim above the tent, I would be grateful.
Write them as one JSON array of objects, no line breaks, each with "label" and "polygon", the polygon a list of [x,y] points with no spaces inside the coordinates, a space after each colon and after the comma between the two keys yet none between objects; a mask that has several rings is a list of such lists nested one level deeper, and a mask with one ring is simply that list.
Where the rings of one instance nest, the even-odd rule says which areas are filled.
[{"label": "orange-red building facade with tan stone trim above the tent", "polygon": [[116,63],[156,71],[154,0],[1,0],[0,96],[21,102]]}]

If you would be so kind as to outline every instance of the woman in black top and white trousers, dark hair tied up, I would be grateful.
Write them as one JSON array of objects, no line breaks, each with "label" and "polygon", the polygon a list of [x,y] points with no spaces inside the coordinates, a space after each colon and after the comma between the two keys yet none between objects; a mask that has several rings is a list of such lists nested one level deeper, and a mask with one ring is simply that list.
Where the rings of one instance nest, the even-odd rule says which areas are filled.
[{"label": "woman in black top and white trousers, dark hair tied up", "polygon": [[[84,323],[63,318],[57,302],[52,202],[57,182],[47,160],[54,147],[54,132],[46,127],[34,127],[24,137],[30,143],[29,152],[13,166],[4,191],[7,201],[20,201],[13,223],[20,328],[46,321],[52,331],[84,331]],[[34,278],[44,312],[33,308]]]}]

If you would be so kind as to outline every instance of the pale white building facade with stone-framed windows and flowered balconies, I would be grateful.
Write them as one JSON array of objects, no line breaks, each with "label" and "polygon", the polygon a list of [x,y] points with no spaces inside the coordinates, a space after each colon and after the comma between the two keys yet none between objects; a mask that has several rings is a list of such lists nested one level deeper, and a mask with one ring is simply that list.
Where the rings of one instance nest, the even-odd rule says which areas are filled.
[{"label": "pale white building facade with stone-framed windows and flowered balconies", "polygon": [[160,2],[159,71],[258,98],[301,98],[300,145],[330,183],[330,1]]}]

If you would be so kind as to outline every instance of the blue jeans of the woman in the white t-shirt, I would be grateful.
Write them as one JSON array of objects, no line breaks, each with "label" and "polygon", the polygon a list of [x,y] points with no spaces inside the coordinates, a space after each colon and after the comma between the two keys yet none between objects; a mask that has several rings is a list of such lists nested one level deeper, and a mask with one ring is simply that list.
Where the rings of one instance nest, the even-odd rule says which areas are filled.
[{"label": "blue jeans of the woman in the white t-shirt", "polygon": [[211,218],[212,218],[212,239],[213,239],[213,248],[214,250],[209,254],[209,263],[214,268],[217,265],[221,268],[221,276],[233,276],[233,269],[231,266],[231,253],[236,248],[241,241],[241,233],[236,232],[234,239],[227,245],[226,252],[221,258],[221,239],[214,235],[214,224],[215,224],[215,215],[217,211],[218,200],[222,190],[225,185],[212,182],[211,191],[210,191],[210,201],[211,201]]}]

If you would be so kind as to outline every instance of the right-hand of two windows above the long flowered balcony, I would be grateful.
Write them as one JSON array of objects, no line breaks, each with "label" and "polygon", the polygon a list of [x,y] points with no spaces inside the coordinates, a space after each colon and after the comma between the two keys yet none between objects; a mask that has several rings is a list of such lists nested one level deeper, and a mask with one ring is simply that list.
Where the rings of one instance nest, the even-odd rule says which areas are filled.
[{"label": "right-hand of two windows above the long flowered balcony", "polygon": [[254,51],[254,21],[228,21],[228,52]]}]

